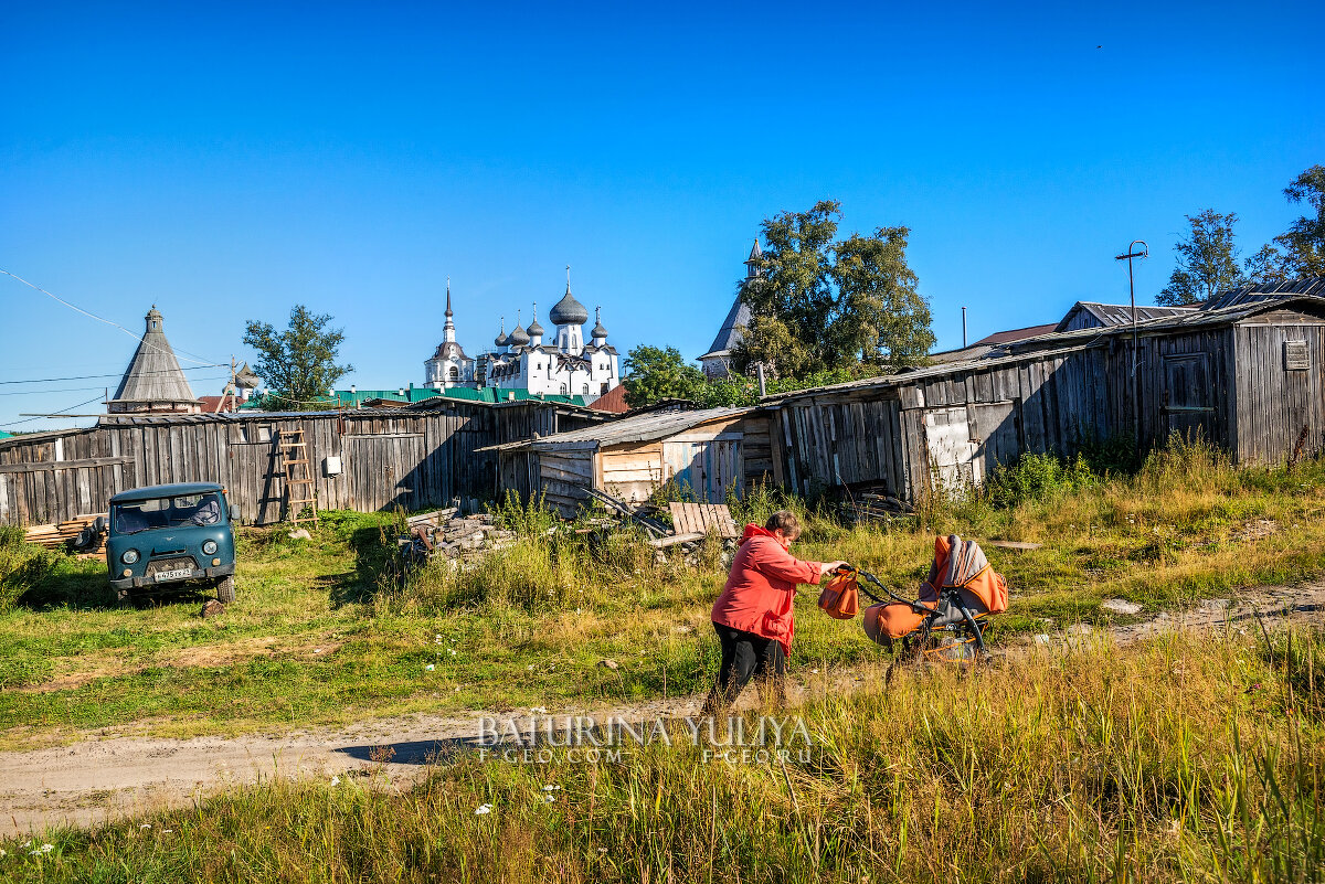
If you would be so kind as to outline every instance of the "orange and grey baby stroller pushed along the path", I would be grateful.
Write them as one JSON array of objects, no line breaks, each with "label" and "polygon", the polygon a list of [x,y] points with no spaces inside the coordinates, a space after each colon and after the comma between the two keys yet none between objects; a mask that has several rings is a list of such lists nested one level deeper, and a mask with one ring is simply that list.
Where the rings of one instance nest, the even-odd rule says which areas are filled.
[{"label": "orange and grey baby stroller pushed along the path", "polygon": [[877,602],[865,609],[865,634],[888,650],[901,643],[898,662],[983,660],[984,630],[991,614],[1007,610],[1007,581],[998,574],[974,540],[957,535],[934,539],[929,578],[920,598],[902,598],[869,572],[857,572],[881,590],[885,601],[860,586]]}]

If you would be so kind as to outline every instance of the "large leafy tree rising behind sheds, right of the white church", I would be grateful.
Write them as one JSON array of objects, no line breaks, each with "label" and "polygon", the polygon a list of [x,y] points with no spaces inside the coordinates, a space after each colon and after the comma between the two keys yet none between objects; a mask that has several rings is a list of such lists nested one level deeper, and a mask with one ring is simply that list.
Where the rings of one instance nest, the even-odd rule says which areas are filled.
[{"label": "large leafy tree rising behind sheds, right of the white church", "polygon": [[731,355],[738,372],[763,363],[774,377],[796,377],[925,360],[934,333],[906,265],[910,230],[839,241],[840,220],[841,204],[823,200],[763,222],[759,273],[741,283],[751,319]]}]

